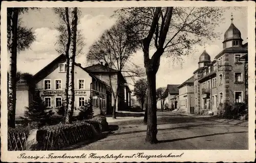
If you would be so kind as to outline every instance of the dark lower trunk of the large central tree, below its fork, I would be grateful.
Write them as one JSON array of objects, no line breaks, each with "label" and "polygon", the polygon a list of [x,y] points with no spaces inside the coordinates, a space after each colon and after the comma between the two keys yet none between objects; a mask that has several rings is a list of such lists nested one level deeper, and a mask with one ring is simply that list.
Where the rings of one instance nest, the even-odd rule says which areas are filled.
[{"label": "dark lower trunk of the large central tree, below its fork", "polygon": [[[150,69],[154,69],[151,67]],[[157,103],[156,103],[156,74],[151,70],[147,75],[147,90],[148,90],[148,108],[147,108],[147,131],[146,142],[154,144],[157,143]]]}]

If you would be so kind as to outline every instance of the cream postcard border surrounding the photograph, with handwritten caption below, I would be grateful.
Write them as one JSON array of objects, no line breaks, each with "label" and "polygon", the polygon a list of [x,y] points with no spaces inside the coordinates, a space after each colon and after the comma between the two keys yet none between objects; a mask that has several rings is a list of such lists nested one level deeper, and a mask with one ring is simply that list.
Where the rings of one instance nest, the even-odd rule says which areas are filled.
[{"label": "cream postcard border surrounding the photograph, with handwritten caption below", "polygon": [[[142,7],[142,6],[247,6],[248,7],[248,90],[249,90],[249,142],[248,150],[119,150],[119,151],[7,151],[7,32],[6,32],[6,13],[7,7]],[[200,162],[244,162],[244,161],[253,161],[255,159],[255,138],[254,138],[254,129],[255,129],[255,3],[253,2],[191,2],[191,1],[129,1],[129,2],[2,2],[1,10],[1,160],[7,162],[28,162],[28,161],[46,161],[46,162],[146,162],[146,161],[200,161]],[[172,148],[172,147],[170,147]],[[20,154],[25,153],[29,156],[44,156],[44,158],[38,159],[20,159],[17,158]],[[83,153],[87,154],[87,157],[90,153],[97,153],[98,155],[105,154],[114,154],[119,155],[133,155],[136,153],[144,153],[146,155],[168,155],[169,153],[180,155],[181,157],[175,158],[102,158],[102,159],[90,159],[90,158],[71,158],[71,159],[62,159],[62,158],[46,158],[50,153],[54,155],[78,155],[81,156]]]}]

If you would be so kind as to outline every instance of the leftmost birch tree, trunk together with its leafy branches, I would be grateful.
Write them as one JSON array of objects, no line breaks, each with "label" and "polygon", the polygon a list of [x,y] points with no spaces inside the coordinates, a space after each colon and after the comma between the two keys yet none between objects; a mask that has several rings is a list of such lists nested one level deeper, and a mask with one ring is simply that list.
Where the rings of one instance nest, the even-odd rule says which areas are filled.
[{"label": "leftmost birch tree, trunk together with its leafy branches", "polygon": [[28,49],[35,40],[31,29],[20,26],[18,16],[28,8],[7,9],[7,48],[10,52],[8,73],[8,125],[15,128],[17,53]]}]

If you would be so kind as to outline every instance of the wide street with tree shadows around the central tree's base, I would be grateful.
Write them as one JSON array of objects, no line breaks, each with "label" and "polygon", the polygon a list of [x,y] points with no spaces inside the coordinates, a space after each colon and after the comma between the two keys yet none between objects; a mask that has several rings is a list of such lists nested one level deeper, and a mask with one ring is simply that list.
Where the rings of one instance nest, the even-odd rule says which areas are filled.
[{"label": "wide street with tree shadows around the central tree's base", "polygon": [[158,144],[145,143],[143,117],[109,122],[113,130],[90,144],[73,150],[238,150],[248,149],[248,127],[187,117],[174,112],[157,112]]}]

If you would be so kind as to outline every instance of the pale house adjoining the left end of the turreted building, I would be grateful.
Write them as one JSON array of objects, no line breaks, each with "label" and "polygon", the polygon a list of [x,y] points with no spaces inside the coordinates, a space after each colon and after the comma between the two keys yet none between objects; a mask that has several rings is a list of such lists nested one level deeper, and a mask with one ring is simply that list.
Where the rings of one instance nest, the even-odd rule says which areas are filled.
[{"label": "pale house adjoining the left end of the turreted building", "polygon": [[178,86],[179,88],[179,111],[194,113],[195,97],[194,97],[194,76],[187,79]]}]

